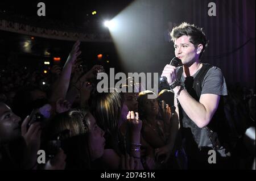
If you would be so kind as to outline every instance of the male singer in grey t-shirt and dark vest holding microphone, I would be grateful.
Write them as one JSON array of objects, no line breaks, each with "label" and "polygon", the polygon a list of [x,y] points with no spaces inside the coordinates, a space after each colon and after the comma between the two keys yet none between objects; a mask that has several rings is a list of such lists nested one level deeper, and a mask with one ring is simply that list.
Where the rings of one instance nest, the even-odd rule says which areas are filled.
[{"label": "male singer in grey t-shirt and dark vest holding microphone", "polygon": [[188,169],[228,169],[230,153],[225,147],[227,139],[221,119],[224,108],[220,101],[227,89],[222,72],[200,62],[208,43],[201,28],[181,23],[172,29],[171,38],[175,56],[183,66],[166,65],[162,77],[167,78],[175,93]]}]

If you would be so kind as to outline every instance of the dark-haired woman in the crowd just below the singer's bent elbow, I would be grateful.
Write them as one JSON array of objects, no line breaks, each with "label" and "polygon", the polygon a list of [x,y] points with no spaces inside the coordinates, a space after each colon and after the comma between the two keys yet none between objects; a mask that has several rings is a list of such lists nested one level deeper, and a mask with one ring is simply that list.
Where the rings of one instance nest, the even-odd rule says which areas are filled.
[{"label": "dark-haired woman in the crowd just below the singer's bent elbow", "polygon": [[[174,128],[175,121],[171,120],[171,108],[161,105],[160,110],[158,99],[148,99],[152,91],[139,93],[139,115],[142,119],[142,146],[146,148],[148,156],[155,158],[162,168],[162,163],[167,163],[173,153],[175,137],[171,128]],[[163,104],[163,103],[162,103]],[[177,128],[176,128],[177,129]]]}]

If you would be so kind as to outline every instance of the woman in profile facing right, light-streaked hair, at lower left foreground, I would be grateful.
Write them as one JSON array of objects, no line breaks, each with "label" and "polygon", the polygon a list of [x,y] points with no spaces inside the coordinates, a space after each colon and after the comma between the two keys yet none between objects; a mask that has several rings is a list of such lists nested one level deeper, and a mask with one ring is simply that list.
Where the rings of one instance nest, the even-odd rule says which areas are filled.
[{"label": "woman in profile facing right, light-streaked hair, at lower left foreground", "polygon": [[104,152],[104,133],[86,110],[56,115],[47,130],[48,140],[59,138],[61,141],[61,148],[67,155],[66,169],[92,169],[93,161]]}]

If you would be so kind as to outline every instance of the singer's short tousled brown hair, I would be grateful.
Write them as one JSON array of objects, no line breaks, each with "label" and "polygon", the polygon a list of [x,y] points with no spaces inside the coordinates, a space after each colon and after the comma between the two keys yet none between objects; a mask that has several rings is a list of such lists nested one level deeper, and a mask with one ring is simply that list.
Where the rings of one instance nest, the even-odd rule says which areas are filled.
[{"label": "singer's short tousled brown hair", "polygon": [[197,47],[199,44],[203,45],[203,49],[199,55],[199,58],[203,55],[205,48],[208,45],[208,40],[205,36],[203,28],[196,27],[195,24],[189,24],[186,22],[176,26],[170,32],[171,40],[174,42],[179,37],[185,35],[190,36],[189,41]]}]

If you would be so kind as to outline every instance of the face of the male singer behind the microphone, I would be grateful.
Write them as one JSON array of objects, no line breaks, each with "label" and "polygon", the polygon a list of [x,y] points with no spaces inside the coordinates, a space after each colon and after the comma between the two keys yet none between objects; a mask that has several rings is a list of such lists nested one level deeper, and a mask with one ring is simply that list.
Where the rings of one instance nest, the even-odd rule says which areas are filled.
[{"label": "face of the male singer behind the microphone", "polygon": [[190,36],[183,35],[174,41],[175,56],[180,58],[183,65],[191,65],[199,60],[195,45],[189,39]]}]

